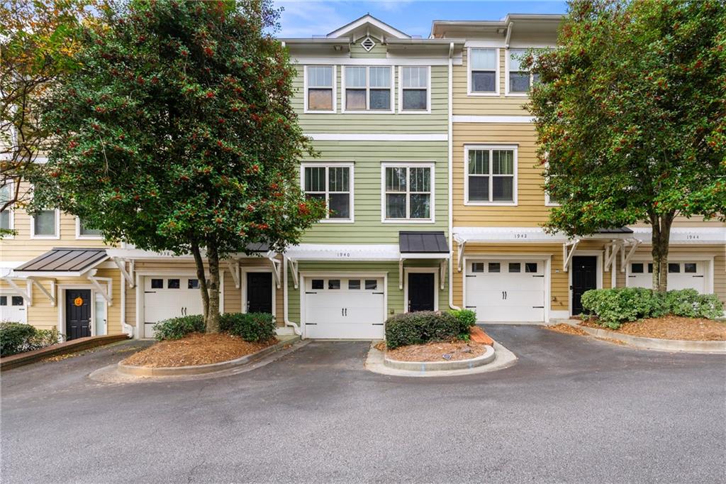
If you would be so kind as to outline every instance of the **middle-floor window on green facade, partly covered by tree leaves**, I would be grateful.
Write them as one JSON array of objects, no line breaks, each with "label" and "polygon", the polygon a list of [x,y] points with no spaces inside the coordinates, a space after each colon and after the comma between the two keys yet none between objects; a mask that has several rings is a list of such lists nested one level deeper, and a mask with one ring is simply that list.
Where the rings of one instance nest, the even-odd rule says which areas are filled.
[{"label": "middle-floor window on green facade, partly covered by tree leaves", "polygon": [[308,200],[323,200],[325,222],[353,222],[353,164],[303,164],[303,191]]}]

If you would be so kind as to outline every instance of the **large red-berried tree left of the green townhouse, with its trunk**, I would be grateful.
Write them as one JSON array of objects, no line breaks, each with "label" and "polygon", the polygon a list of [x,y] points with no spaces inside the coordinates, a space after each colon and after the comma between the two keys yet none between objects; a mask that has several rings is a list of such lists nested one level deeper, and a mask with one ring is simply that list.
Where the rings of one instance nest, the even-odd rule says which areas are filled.
[{"label": "large red-berried tree left of the green townhouse, with its trunk", "polygon": [[295,70],[265,33],[277,11],[159,0],[104,13],[46,106],[55,137],[34,206],[107,241],[193,254],[207,331],[219,331],[220,260],[248,243],[282,250],[325,210],[299,187],[311,152],[290,105]]}]

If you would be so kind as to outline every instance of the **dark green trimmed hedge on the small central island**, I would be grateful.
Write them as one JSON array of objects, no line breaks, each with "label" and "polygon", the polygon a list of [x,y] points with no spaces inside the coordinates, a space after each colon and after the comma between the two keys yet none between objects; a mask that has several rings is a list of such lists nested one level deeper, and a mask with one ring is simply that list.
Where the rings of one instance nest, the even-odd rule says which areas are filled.
[{"label": "dark green trimmed hedge on the small central island", "polygon": [[474,324],[476,314],[470,310],[406,312],[386,320],[386,347],[467,339]]}]

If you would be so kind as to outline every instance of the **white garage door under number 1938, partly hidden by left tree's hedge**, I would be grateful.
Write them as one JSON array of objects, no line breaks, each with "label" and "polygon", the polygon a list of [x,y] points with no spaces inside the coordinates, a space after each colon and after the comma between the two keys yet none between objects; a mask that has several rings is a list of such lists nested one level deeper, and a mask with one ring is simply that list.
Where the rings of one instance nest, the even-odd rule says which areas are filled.
[{"label": "white garage door under number 1938, partly hidden by left tree's hedge", "polygon": [[199,281],[183,275],[144,278],[144,338],[154,337],[154,323],[202,314]]}]

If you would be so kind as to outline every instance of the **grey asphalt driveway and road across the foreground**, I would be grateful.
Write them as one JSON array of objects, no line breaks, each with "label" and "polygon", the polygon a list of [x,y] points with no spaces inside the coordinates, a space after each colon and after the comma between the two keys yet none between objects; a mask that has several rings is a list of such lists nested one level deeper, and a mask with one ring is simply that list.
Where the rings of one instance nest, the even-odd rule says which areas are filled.
[{"label": "grey asphalt driveway and road across the foreground", "polygon": [[104,384],[138,342],[2,374],[3,483],[726,480],[726,357],[487,326],[502,371],[382,376],[364,342],[244,374]]}]

